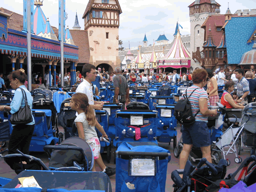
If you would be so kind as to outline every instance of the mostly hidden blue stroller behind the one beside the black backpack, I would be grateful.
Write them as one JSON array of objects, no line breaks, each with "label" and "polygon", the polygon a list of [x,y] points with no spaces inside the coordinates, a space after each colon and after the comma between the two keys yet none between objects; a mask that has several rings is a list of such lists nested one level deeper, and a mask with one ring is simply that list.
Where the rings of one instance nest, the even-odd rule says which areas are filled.
[{"label": "mostly hidden blue stroller behind the one beside the black backpack", "polygon": [[157,104],[174,104],[173,96],[150,96],[148,106],[155,110]]}]

